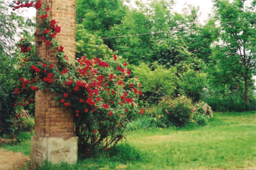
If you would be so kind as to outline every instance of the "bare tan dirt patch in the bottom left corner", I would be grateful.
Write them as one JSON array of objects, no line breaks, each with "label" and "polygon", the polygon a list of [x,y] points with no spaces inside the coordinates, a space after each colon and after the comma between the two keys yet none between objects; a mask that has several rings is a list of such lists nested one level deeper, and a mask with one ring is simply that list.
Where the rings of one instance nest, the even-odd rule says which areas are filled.
[{"label": "bare tan dirt patch in the bottom left corner", "polygon": [[0,170],[19,169],[29,161],[30,158],[20,152],[0,149]]}]

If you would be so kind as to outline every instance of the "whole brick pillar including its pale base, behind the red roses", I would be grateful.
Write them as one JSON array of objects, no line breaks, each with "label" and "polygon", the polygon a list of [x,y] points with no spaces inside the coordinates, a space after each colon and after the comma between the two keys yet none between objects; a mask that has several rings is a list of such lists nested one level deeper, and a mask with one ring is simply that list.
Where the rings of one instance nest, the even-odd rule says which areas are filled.
[{"label": "whole brick pillar including its pale base, behind the red roses", "polygon": [[[64,47],[69,59],[75,59],[75,0],[41,0],[42,9],[49,5],[47,12],[61,27],[55,37]],[[37,21],[40,21],[37,12]],[[36,37],[36,55],[57,64],[54,54],[45,42]],[[31,140],[31,160],[34,164],[46,160],[52,163],[75,163],[77,160],[77,137],[74,137],[72,114],[54,105],[55,93],[49,90],[36,92],[35,135]]]}]

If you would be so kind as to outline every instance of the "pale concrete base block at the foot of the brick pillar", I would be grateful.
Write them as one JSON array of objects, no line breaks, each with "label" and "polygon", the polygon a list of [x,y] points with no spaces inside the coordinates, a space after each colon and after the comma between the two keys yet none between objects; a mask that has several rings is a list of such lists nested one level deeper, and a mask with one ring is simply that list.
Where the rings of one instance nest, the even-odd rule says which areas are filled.
[{"label": "pale concrete base block at the foot of the brick pillar", "polygon": [[31,139],[31,161],[40,165],[42,161],[54,164],[77,161],[77,137],[64,140],[62,137],[35,137]]}]

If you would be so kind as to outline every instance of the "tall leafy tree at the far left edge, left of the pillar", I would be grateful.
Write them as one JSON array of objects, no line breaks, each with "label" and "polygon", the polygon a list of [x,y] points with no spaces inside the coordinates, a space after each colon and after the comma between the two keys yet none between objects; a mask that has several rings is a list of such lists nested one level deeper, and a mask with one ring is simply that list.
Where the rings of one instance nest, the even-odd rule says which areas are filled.
[{"label": "tall leafy tree at the far left edge, left of the pillar", "polygon": [[15,50],[14,37],[18,27],[26,27],[24,18],[8,12],[8,4],[0,1],[0,129],[1,133],[13,130],[12,116],[15,114],[18,73],[22,64],[20,52]]}]

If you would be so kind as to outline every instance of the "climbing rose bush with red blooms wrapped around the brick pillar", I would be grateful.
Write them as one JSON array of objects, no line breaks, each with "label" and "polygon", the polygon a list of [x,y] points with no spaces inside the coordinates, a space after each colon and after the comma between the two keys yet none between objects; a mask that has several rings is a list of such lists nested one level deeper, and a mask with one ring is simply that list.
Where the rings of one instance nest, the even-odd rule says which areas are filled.
[{"label": "climbing rose bush with red blooms wrapped around the brick pillar", "polygon": [[[20,8],[24,3],[15,2],[13,8],[18,9],[15,4]],[[104,60],[83,56],[70,61],[64,47],[55,40],[61,28],[48,15],[50,8],[40,1],[31,4],[40,15],[42,41],[56,55],[58,65],[27,50],[23,76],[15,89],[19,99],[15,106],[20,109],[33,103],[32,95],[37,90],[54,91],[56,104],[74,115],[75,135],[82,154],[90,155],[95,147],[111,149],[124,137],[127,122],[135,114],[143,114],[143,109],[138,108],[138,97],[142,95],[139,79],[129,78],[127,63],[121,63],[117,55],[106,56]]]}]

